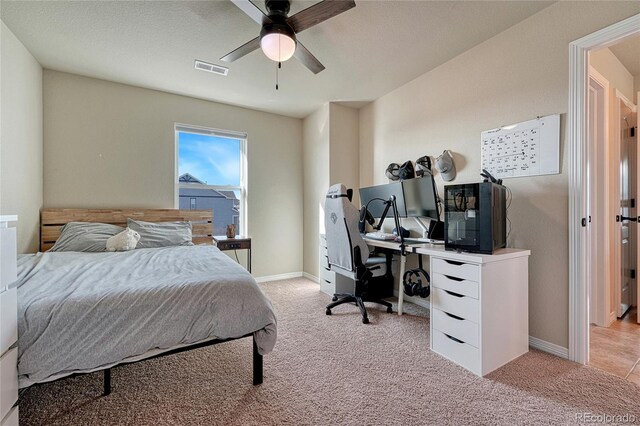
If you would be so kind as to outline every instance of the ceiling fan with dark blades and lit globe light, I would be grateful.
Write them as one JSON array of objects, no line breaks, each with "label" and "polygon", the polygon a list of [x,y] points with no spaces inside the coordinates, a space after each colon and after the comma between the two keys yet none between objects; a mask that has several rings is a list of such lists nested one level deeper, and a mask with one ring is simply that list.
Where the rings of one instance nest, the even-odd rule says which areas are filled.
[{"label": "ceiling fan with dark blades and lit globe light", "polygon": [[296,40],[296,34],[326,21],[355,7],[354,0],[324,0],[295,15],[287,16],[291,2],[289,0],[265,0],[265,15],[249,0],[231,0],[240,10],[262,26],[260,35],[220,58],[233,62],[244,55],[262,48],[264,54],[276,62],[284,62],[295,56],[314,74],[324,69],[324,65]]}]

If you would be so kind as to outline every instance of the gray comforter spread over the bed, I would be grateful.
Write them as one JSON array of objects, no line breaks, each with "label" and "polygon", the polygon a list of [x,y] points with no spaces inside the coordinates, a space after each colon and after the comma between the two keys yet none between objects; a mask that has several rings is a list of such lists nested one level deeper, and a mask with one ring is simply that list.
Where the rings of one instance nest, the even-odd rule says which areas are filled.
[{"label": "gray comforter spread over the bed", "polygon": [[276,342],[271,303],[213,246],[21,256],[18,305],[20,387],[209,339]]}]

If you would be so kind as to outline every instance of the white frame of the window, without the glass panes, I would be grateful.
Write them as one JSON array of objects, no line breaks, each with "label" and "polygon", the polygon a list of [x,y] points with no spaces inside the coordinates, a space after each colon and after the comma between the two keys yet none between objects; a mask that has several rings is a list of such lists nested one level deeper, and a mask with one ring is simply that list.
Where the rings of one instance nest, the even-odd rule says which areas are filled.
[{"label": "white frame of the window, without the glass panes", "polygon": [[[174,204],[177,208],[180,208],[180,182],[178,179],[180,177],[178,170],[178,161],[179,161],[179,137],[178,133],[195,133],[199,135],[205,136],[216,136],[220,138],[229,138],[240,140],[240,185],[202,185],[200,188],[213,189],[216,191],[238,191],[240,193],[240,229],[238,233],[240,235],[249,235],[249,226],[248,226],[248,208],[247,208],[247,198],[248,198],[248,176],[247,176],[247,134],[243,132],[235,132],[232,130],[221,130],[214,129],[210,127],[202,127],[202,126],[194,126],[191,124],[182,124],[182,123],[174,123],[174,137],[175,137],[175,170],[174,170],[174,187],[175,187],[175,197]],[[216,212],[213,212],[215,215]]]}]

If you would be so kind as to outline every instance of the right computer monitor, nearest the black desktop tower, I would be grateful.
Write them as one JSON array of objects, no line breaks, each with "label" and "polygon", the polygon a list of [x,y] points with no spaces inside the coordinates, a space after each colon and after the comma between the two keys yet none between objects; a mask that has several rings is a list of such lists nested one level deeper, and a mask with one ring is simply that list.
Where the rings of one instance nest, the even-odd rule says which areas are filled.
[{"label": "right computer monitor, nearest the black desktop tower", "polygon": [[404,205],[407,217],[426,217],[440,220],[438,208],[438,190],[433,175],[402,181]]}]

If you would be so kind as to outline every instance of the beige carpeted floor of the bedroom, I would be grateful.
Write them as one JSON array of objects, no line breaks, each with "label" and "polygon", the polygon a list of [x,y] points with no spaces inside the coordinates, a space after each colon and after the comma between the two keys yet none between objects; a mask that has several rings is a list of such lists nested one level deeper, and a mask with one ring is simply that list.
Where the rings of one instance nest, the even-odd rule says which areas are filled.
[{"label": "beige carpeted floor of the bedroom", "polygon": [[243,339],[118,367],[107,397],[101,373],[33,386],[21,424],[564,425],[582,413],[640,424],[640,387],[600,370],[532,350],[480,378],[428,349],[421,308],[372,305],[364,325],[355,306],[326,316],[329,297],[306,279],[262,286],[279,334],[264,384],[251,385]]}]

